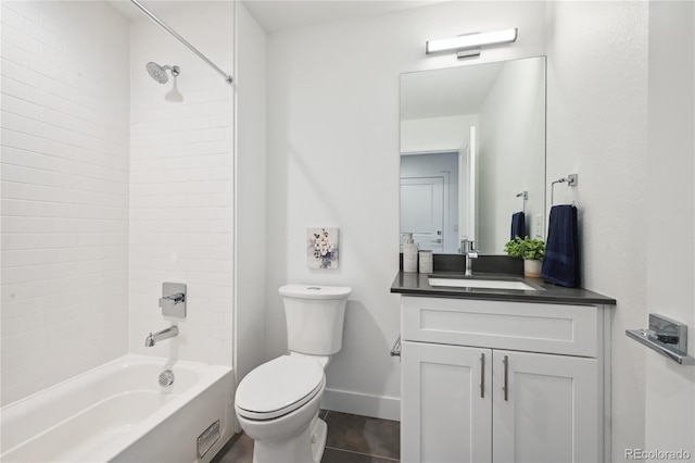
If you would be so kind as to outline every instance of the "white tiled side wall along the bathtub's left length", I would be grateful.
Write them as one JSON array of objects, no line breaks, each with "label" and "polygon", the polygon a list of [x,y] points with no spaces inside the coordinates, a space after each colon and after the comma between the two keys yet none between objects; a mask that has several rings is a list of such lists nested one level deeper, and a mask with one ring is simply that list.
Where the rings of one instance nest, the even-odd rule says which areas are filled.
[{"label": "white tiled side wall along the bathtub's left length", "polygon": [[2,2],[2,404],[127,352],[128,22]]}]

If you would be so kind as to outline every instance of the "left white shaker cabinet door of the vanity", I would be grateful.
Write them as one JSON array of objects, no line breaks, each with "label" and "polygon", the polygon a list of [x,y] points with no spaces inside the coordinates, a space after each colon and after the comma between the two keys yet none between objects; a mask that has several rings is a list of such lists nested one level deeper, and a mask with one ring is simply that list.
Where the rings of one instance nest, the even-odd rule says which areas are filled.
[{"label": "left white shaker cabinet door of the vanity", "polygon": [[492,350],[404,341],[401,460],[492,461]]}]

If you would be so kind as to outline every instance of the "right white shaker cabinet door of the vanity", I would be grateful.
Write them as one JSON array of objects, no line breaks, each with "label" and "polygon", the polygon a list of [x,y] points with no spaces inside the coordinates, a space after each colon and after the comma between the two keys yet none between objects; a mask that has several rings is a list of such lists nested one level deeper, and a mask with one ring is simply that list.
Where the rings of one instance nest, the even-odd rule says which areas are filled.
[{"label": "right white shaker cabinet door of the vanity", "polygon": [[493,358],[494,462],[602,460],[596,359],[502,350]]}]

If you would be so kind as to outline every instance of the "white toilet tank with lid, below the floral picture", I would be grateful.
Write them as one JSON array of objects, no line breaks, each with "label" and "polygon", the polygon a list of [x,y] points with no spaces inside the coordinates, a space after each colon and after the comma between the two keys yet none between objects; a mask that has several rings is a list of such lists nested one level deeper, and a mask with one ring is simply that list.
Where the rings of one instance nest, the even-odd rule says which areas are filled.
[{"label": "white toilet tank with lid, below the floral picture", "polygon": [[352,291],[343,286],[286,285],[279,289],[291,352],[332,355],[343,347],[345,304]]}]

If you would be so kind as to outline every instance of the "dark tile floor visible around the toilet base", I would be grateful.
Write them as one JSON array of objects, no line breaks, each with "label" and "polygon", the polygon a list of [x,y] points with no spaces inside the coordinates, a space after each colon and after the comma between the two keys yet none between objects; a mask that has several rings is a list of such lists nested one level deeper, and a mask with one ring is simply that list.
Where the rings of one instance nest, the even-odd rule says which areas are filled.
[{"label": "dark tile floor visible around the toilet base", "polygon": [[[401,423],[349,413],[321,411],[328,424],[321,463],[392,463],[400,459]],[[235,436],[212,463],[251,463],[253,440]]]}]

